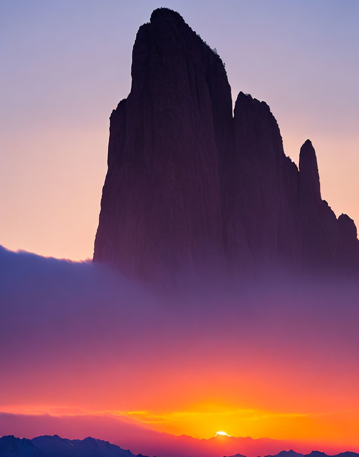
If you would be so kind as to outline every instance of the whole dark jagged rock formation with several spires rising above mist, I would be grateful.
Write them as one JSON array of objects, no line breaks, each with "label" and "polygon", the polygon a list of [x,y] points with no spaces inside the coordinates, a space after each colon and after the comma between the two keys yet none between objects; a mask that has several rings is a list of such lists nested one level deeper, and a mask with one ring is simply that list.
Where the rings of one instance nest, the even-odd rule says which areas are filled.
[{"label": "whole dark jagged rock formation with several spires rising above mist", "polygon": [[299,170],[269,107],[242,92],[176,12],[153,11],[132,88],[110,117],[94,261],[145,280],[262,265],[357,269],[353,221],[321,199],[307,140]]}]

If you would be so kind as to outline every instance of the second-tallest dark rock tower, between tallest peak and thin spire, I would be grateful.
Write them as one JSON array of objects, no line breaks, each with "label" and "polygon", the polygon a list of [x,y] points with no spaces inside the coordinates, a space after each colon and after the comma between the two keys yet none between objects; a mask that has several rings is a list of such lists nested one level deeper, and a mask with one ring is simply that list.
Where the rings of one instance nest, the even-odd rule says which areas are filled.
[{"label": "second-tallest dark rock tower, between tallest peak and thin spire", "polygon": [[[297,264],[298,169],[284,154],[278,124],[267,104],[242,92],[233,123],[228,225],[244,227],[255,263]],[[233,234],[229,249],[238,242]]]}]

